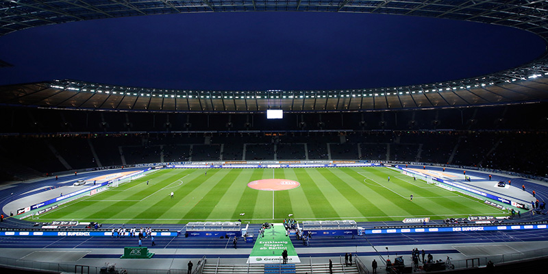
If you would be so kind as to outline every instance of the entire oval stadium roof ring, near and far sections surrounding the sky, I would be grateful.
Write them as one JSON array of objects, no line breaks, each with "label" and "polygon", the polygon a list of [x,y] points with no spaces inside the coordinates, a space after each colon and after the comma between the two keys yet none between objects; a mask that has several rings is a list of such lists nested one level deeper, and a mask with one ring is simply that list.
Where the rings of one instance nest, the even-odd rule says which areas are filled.
[{"label": "entire oval stadium roof ring, near and far sections surrounding the sky", "polygon": [[[1,1],[0,35],[99,18],[231,11],[320,11],[427,16],[516,27],[548,44],[547,1]],[[362,90],[214,91],[131,88],[71,80],[0,87],[3,105],[149,111],[387,110],[548,99],[548,51],[507,71],[415,86]],[[341,87],[344,88],[344,87]]]}]

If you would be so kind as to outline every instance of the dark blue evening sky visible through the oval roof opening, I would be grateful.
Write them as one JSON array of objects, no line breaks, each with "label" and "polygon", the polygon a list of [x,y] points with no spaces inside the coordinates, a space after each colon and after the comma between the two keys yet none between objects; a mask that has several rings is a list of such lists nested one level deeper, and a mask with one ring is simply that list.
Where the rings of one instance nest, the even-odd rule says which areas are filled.
[{"label": "dark blue evening sky visible through the oval roof opening", "polygon": [[324,12],[172,14],[36,27],[0,37],[0,84],[77,79],[199,90],[378,88],[530,62],[543,40],[436,18]]}]

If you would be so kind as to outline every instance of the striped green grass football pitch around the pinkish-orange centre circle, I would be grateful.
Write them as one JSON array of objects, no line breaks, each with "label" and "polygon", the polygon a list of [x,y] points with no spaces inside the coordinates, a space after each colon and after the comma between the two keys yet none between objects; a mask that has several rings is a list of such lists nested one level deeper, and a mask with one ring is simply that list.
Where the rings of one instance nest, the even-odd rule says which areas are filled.
[{"label": "striped green grass football pitch around the pinkish-orange centre circle", "polygon": [[[390,176],[390,182],[387,178]],[[257,179],[291,179],[292,190],[249,188]],[[146,182],[149,180],[149,185]],[[175,193],[171,199],[169,194]],[[410,201],[413,195],[413,201]],[[245,213],[240,216],[240,213]],[[388,168],[165,169],[86,196],[40,215],[40,221],[188,223],[189,221],[280,221],[351,219],[401,221],[501,216],[482,200],[413,181]]]}]

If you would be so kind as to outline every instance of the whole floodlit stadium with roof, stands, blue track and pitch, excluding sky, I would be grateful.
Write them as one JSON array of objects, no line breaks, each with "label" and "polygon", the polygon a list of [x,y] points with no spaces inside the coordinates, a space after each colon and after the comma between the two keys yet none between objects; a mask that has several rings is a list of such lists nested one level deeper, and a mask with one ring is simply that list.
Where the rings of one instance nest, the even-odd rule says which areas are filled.
[{"label": "whole floodlit stadium with roof, stands, blue track and pitch, excluding sky", "polygon": [[[545,1],[19,0],[0,3],[0,35],[260,11],[471,21],[548,45]],[[548,258],[547,61],[545,49],[488,75],[362,89],[0,86],[0,267],[538,271]],[[0,71],[11,66],[0,60]]]}]

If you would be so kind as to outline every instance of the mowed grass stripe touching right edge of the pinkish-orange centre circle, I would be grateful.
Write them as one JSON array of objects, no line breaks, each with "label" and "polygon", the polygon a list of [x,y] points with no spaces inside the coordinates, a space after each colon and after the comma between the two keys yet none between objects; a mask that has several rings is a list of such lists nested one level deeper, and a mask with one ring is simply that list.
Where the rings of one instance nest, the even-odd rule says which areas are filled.
[{"label": "mowed grass stripe touching right edge of the pinkish-orange centre circle", "polygon": [[323,192],[316,185],[314,179],[310,177],[306,169],[295,169],[295,175],[297,175],[297,181],[301,183],[301,188],[303,188],[308,204],[310,204],[310,208],[314,212],[314,216],[310,217],[339,219],[340,216],[338,216],[336,210],[331,206],[329,200],[323,195]]}]

